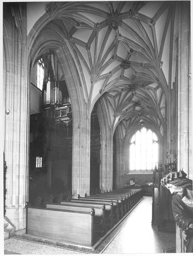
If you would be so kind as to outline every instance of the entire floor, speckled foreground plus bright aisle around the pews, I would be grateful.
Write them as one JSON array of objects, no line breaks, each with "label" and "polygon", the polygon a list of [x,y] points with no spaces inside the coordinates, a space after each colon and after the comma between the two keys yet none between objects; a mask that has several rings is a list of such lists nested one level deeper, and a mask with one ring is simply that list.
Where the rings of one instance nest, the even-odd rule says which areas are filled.
[{"label": "entire floor, speckled foreground plus bright aisle around the pews", "polygon": [[25,230],[18,231],[4,243],[5,254],[85,254],[85,253],[163,253],[176,246],[175,234],[158,232],[151,226],[152,197],[144,199],[93,252],[38,240],[21,240]]}]

